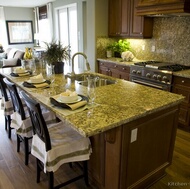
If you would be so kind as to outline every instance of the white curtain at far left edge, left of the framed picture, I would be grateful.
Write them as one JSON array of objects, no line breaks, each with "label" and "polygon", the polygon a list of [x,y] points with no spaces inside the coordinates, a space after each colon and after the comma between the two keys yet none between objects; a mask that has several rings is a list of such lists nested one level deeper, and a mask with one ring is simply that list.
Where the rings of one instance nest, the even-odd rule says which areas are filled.
[{"label": "white curtain at far left edge, left of the framed picture", "polygon": [[0,7],[0,44],[2,44],[4,50],[8,48],[8,39],[5,25],[5,15],[3,7]]}]

